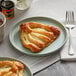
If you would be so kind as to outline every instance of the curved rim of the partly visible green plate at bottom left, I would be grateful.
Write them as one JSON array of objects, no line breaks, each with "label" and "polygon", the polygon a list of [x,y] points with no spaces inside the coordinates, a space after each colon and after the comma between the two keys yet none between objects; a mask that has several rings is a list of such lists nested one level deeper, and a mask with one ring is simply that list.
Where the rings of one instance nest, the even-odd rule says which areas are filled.
[{"label": "curved rim of the partly visible green plate at bottom left", "polygon": [[0,61],[1,61],[1,59],[2,59],[2,61],[4,61],[4,60],[14,61],[15,60],[15,61],[21,62],[25,66],[25,70],[27,68],[28,71],[30,72],[30,75],[33,76],[32,71],[30,70],[30,68],[28,67],[28,65],[25,64],[23,61],[21,61],[19,59],[16,59],[16,58],[12,58],[12,57],[0,57]]}]

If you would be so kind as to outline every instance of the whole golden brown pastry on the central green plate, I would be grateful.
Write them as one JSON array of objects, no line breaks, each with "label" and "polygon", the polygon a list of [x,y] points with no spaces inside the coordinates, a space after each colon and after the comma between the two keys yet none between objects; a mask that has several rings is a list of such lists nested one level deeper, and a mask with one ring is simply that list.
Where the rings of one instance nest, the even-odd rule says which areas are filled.
[{"label": "whole golden brown pastry on the central green plate", "polygon": [[32,52],[39,52],[51,44],[60,34],[54,26],[36,22],[25,22],[20,25],[20,39],[24,47]]}]

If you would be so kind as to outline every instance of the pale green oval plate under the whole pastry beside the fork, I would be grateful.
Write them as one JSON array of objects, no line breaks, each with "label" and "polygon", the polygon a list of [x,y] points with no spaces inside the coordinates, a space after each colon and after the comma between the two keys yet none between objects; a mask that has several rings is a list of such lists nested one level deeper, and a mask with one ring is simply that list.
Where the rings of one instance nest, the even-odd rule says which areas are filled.
[{"label": "pale green oval plate under the whole pastry beside the fork", "polygon": [[[58,27],[61,33],[59,37],[52,44],[44,48],[41,52],[32,53],[29,49],[24,48],[20,41],[19,26],[23,22],[39,22],[42,24],[52,25],[52,26]],[[47,17],[31,17],[31,18],[27,18],[27,19],[21,20],[20,22],[16,23],[10,31],[9,39],[10,39],[11,44],[18,51],[24,54],[28,54],[28,55],[43,56],[43,55],[48,55],[48,54],[58,51],[65,44],[67,40],[67,31],[65,27],[63,26],[63,24],[61,24],[55,19],[47,18]]]}]

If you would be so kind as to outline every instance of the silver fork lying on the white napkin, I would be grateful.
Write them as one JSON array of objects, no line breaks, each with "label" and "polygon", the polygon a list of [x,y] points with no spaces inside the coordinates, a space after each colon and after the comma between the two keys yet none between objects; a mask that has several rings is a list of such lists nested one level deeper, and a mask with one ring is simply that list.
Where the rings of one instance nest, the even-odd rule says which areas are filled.
[{"label": "silver fork lying on the white napkin", "polygon": [[66,11],[66,27],[68,29],[68,35],[69,35],[68,54],[74,55],[74,48],[72,45],[72,38],[71,38],[71,30],[75,27],[73,11]]}]

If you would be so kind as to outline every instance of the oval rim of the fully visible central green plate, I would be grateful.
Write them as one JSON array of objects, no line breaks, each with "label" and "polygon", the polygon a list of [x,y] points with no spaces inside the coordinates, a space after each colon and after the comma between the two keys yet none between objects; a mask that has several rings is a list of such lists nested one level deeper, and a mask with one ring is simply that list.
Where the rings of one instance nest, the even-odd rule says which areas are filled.
[{"label": "oval rim of the fully visible central green plate", "polygon": [[50,52],[50,53],[46,53],[46,54],[31,54],[31,53],[30,53],[30,54],[29,54],[29,53],[25,53],[25,52],[23,52],[23,51],[21,51],[21,50],[19,50],[18,48],[15,47],[15,45],[14,45],[13,42],[11,41],[11,32],[12,32],[12,31],[10,31],[10,33],[9,33],[9,40],[10,40],[10,43],[12,44],[12,46],[13,46],[16,50],[18,50],[19,52],[21,52],[21,53],[23,53],[23,54],[30,55],[30,56],[45,56],[45,55],[49,55],[49,54],[51,54],[51,53],[54,53],[54,52],[58,51],[61,47],[63,47],[63,46],[65,45],[65,43],[66,43],[66,41],[67,41],[67,39],[68,39],[66,27],[63,25],[63,23],[61,23],[60,21],[58,21],[58,20],[56,20],[56,19],[54,19],[54,18],[44,17],[44,16],[27,17],[27,18],[22,19],[22,20],[18,21],[17,23],[15,23],[14,26],[12,26],[11,30],[16,26],[16,24],[18,24],[18,23],[20,23],[20,22],[22,22],[22,21],[24,21],[24,20],[31,19],[31,18],[46,18],[46,19],[51,19],[51,20],[55,21],[56,23],[59,23],[59,24],[62,25],[62,27],[65,29],[65,33],[66,33],[65,40],[64,40],[63,44],[62,44],[59,48],[57,48],[56,50],[54,50],[54,51],[52,51],[52,52]]}]

